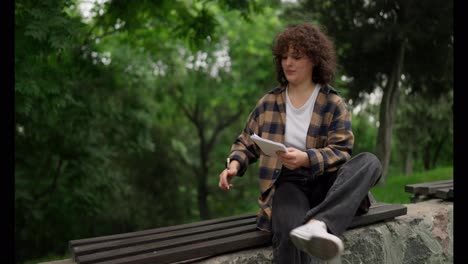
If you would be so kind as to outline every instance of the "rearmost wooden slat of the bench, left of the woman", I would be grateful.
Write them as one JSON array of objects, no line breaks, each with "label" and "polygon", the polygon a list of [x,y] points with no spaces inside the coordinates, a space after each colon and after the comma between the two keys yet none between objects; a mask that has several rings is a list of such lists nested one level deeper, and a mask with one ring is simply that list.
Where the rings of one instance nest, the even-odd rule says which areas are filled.
[{"label": "rearmost wooden slat of the bench, left of the woman", "polygon": [[238,216],[229,216],[229,217],[223,217],[223,218],[218,218],[218,219],[199,221],[195,223],[188,223],[188,224],[169,226],[169,227],[160,227],[160,228],[154,228],[154,229],[148,229],[148,230],[142,230],[142,231],[136,231],[136,232],[127,232],[127,233],[116,234],[116,235],[75,239],[69,242],[69,248],[80,246],[80,245],[93,244],[96,242],[111,241],[111,240],[130,238],[130,237],[138,237],[138,236],[144,236],[144,235],[150,235],[150,234],[169,232],[173,230],[180,230],[180,229],[186,229],[186,228],[192,228],[192,227],[198,227],[198,226],[224,223],[224,222],[229,222],[229,221],[237,221],[237,220],[241,220],[245,218],[252,218],[256,216],[257,215],[255,213],[249,213],[249,214],[243,214],[243,215],[238,215]]}]

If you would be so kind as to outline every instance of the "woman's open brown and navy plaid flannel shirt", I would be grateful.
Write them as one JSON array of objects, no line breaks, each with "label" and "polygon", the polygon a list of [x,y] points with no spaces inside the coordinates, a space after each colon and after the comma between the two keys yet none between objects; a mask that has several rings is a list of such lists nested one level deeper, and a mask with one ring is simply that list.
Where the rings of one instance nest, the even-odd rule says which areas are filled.
[{"label": "woman's open brown and navy plaid flannel shirt", "polygon": [[[266,231],[271,231],[271,202],[282,162],[277,157],[263,155],[250,135],[256,133],[284,144],[285,91],[286,87],[276,87],[258,101],[229,155],[231,160],[240,163],[238,176],[244,175],[249,164],[260,161],[257,227]],[[351,157],[354,144],[351,115],[344,100],[328,85],[321,87],[313,111],[306,138],[310,160],[307,171],[311,177],[326,177]]]}]

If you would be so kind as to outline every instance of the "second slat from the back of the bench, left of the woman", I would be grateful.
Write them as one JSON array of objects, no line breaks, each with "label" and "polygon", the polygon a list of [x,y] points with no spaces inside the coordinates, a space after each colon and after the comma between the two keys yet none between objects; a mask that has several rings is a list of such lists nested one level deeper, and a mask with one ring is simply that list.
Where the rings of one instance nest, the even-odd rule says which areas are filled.
[{"label": "second slat from the back of the bench, left of the woman", "polygon": [[131,237],[127,239],[112,240],[112,241],[88,244],[88,245],[83,245],[83,246],[76,246],[76,247],[73,247],[73,252],[76,258],[77,256],[89,254],[93,252],[141,245],[145,243],[157,242],[161,240],[168,240],[168,239],[173,239],[173,238],[178,238],[178,237],[193,236],[196,234],[223,230],[227,228],[239,227],[239,226],[244,226],[244,225],[252,225],[252,224],[255,224],[255,222],[256,222],[255,218],[246,218],[246,219],[241,219],[238,221],[229,221],[229,222],[217,223],[213,225],[205,225],[205,226],[199,226],[199,227],[194,227],[194,228],[185,228],[182,230],[174,230],[174,231],[159,233],[155,235],[145,235],[145,236],[140,236],[140,237]]}]

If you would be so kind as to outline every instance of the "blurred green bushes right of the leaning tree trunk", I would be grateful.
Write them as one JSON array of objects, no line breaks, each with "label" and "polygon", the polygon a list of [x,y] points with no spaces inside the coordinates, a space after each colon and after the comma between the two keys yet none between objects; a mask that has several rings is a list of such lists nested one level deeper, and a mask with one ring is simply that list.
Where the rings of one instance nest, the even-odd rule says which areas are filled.
[{"label": "blurred green bushes right of the leaning tree trunk", "polygon": [[401,99],[394,145],[400,160],[395,161],[404,163],[410,155],[417,171],[452,165],[453,92],[438,98],[408,92]]}]

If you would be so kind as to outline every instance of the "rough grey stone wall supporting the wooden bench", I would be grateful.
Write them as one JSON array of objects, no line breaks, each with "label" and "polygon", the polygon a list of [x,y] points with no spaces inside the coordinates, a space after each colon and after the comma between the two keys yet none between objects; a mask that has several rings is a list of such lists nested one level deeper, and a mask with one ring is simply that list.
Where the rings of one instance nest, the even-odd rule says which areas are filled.
[{"label": "rough grey stone wall supporting the wooden bench", "polygon": [[[348,230],[344,254],[330,264],[453,263],[453,203],[439,199],[407,204],[407,215]],[[199,260],[197,264],[271,263],[271,247]],[[312,260],[312,263],[327,263]]]}]

